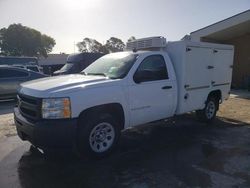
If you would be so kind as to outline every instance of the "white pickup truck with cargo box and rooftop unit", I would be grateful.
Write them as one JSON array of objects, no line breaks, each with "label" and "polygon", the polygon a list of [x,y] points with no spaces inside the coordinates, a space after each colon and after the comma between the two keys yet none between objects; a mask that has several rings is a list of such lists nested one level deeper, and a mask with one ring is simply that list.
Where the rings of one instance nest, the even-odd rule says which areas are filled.
[{"label": "white pickup truck with cargo box and rooftop unit", "polygon": [[233,54],[230,45],[163,37],[129,42],[80,74],[21,84],[18,135],[44,151],[103,157],[128,127],[190,111],[211,122],[229,96]]}]

